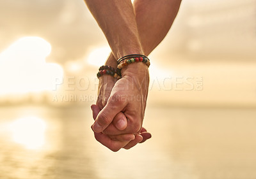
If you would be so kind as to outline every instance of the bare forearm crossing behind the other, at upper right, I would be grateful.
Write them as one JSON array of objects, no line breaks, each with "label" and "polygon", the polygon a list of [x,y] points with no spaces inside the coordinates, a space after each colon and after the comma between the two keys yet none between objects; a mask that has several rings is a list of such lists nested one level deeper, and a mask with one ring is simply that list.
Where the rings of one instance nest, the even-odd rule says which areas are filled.
[{"label": "bare forearm crossing behind the other, at upper right", "polygon": [[161,43],[179,11],[181,0],[136,0],[134,11],[145,55]]}]

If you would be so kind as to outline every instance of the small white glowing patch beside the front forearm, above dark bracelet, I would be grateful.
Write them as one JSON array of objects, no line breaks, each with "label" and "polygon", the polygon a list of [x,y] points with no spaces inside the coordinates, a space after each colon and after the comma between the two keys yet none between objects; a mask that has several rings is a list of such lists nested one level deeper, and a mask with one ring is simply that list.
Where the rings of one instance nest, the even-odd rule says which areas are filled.
[{"label": "small white glowing patch beside the front forearm, above dark bracelet", "polygon": [[93,66],[102,66],[106,62],[110,52],[111,48],[109,47],[94,48],[88,55],[87,61]]}]

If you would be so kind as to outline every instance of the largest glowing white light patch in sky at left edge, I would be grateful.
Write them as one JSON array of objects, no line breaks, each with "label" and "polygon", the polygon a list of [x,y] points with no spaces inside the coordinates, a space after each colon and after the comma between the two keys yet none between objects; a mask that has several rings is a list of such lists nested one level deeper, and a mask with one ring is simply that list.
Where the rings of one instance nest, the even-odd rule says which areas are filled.
[{"label": "largest glowing white light patch in sky at left edge", "polygon": [[54,89],[63,69],[45,62],[50,53],[51,44],[39,37],[20,38],[4,50],[0,54],[0,95]]}]

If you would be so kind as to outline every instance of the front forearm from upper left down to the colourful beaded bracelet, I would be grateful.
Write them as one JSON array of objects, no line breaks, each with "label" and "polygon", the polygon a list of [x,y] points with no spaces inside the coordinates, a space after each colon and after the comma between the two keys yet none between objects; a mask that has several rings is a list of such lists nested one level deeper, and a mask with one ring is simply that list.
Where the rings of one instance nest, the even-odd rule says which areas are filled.
[{"label": "front forearm from upper left down to the colourful beaded bracelet", "polygon": [[131,0],[84,0],[104,32],[115,59],[143,54]]}]

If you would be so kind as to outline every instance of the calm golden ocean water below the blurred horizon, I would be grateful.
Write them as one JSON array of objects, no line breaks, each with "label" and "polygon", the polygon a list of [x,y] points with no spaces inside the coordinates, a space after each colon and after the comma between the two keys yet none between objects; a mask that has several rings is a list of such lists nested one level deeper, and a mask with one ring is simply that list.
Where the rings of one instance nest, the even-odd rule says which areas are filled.
[{"label": "calm golden ocean water below the blurred horizon", "polygon": [[152,138],[111,152],[89,107],[0,108],[0,179],[256,178],[256,110],[148,106]]}]

